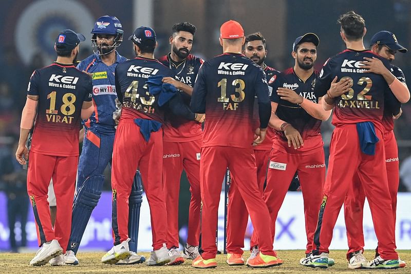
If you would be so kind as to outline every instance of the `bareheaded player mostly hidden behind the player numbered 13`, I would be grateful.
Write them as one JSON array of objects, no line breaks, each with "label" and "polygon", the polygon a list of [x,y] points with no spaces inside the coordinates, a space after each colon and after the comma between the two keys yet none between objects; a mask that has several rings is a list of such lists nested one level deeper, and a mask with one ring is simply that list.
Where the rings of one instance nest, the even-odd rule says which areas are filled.
[{"label": "bareheaded player mostly hidden behind the player numbered 13", "polygon": [[[260,32],[246,36],[246,43],[243,50],[246,57],[250,58],[257,65],[263,68],[267,79],[276,78],[279,71],[265,64],[267,57],[266,40]],[[257,113],[256,123],[258,123],[258,105],[254,109]],[[266,180],[268,159],[272,149],[273,129],[268,127],[264,141],[254,147],[255,165],[257,167],[258,189],[263,193],[264,182]],[[233,180],[233,179],[232,179]],[[238,191],[235,182],[230,186],[229,204],[227,212],[227,264],[244,265],[242,253],[244,248],[244,237],[248,223],[248,212],[244,200]],[[247,212],[247,214],[245,214]]]}]

